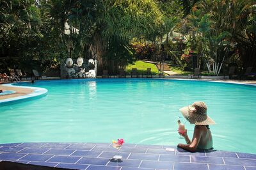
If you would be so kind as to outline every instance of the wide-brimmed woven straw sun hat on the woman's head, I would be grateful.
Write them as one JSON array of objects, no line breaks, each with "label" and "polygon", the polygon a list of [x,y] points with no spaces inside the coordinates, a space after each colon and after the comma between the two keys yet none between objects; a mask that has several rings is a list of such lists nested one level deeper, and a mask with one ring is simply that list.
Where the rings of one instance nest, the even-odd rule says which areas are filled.
[{"label": "wide-brimmed woven straw sun hat on the woman's head", "polygon": [[195,125],[213,125],[215,121],[207,116],[207,106],[204,102],[194,102],[192,105],[182,107],[180,112],[184,118]]}]

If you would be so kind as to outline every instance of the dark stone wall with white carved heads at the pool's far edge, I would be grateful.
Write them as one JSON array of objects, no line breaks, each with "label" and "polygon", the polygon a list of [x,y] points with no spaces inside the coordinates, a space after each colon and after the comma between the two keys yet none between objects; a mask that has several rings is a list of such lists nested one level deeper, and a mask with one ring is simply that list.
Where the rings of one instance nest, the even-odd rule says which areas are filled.
[{"label": "dark stone wall with white carved heads at the pool's far edge", "polygon": [[83,58],[67,58],[61,64],[62,79],[96,78],[97,60]]}]

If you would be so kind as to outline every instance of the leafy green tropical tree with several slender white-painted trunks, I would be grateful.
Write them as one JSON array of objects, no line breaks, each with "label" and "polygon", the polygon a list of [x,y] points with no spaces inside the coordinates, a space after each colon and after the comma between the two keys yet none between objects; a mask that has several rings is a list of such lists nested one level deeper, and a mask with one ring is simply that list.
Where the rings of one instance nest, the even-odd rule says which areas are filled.
[{"label": "leafy green tropical tree with several slender white-painted trunks", "polygon": [[227,8],[223,1],[206,0],[194,6],[188,15],[190,48],[204,56],[209,72],[214,75],[219,75],[231,48],[231,34],[223,26],[228,20]]}]

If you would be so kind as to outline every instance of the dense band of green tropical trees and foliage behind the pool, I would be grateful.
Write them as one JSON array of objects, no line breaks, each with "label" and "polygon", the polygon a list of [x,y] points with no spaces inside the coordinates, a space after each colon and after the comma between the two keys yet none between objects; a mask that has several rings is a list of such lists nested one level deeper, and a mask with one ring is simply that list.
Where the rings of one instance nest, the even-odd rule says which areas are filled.
[{"label": "dense band of green tropical trees and foliage behind the pool", "polygon": [[0,72],[58,75],[63,60],[81,56],[97,59],[99,74],[116,73],[141,58],[134,43],[157,49],[150,59],[159,62],[184,67],[182,53],[193,50],[202,69],[243,70],[256,66],[255,35],[253,0],[1,0]]}]

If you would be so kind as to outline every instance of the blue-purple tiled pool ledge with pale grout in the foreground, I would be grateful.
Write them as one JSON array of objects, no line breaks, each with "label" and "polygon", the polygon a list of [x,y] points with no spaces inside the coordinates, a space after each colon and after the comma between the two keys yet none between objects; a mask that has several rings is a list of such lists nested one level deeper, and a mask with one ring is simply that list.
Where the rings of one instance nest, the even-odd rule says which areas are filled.
[{"label": "blue-purple tiled pool ledge with pale grout in the foreground", "polygon": [[0,161],[68,169],[256,169],[256,154],[249,153],[216,150],[191,153],[175,146],[124,144],[119,152],[122,162],[112,162],[116,153],[109,143],[0,144]]}]

